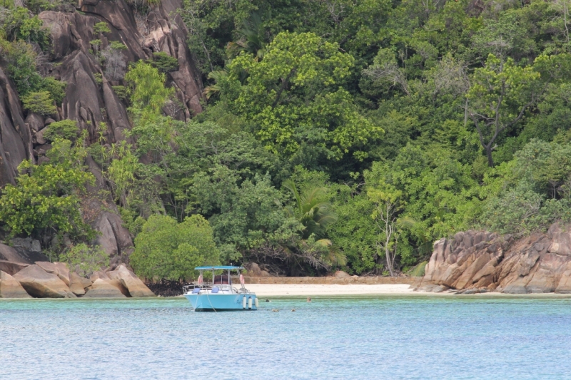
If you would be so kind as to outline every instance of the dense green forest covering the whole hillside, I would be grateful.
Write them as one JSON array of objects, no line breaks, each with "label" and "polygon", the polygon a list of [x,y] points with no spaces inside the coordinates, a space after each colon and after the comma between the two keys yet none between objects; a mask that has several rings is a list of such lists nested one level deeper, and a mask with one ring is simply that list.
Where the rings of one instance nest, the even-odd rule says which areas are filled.
[{"label": "dense green forest covering the whole hillside", "polygon": [[[35,15],[49,6],[0,18],[2,67],[24,107],[46,115],[65,85],[35,67],[32,46],[50,43]],[[0,222],[12,236],[53,229],[91,244],[89,155],[146,277],[205,262],[395,275],[460,230],[545,230],[571,218],[570,6],[186,0],[205,111],[165,112],[176,60],[128,63],[116,86],[128,139],[89,145],[74,122],[52,123],[49,160],[23,163],[1,190]]]}]

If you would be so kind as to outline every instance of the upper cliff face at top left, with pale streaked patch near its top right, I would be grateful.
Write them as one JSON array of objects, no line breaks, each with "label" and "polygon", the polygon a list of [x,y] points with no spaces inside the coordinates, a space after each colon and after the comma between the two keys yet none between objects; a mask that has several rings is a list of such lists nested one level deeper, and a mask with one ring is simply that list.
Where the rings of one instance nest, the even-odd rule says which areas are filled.
[{"label": "upper cliff face at top left, with pale streaked patch near its top right", "polygon": [[[106,122],[108,143],[123,140],[123,131],[129,128],[126,106],[113,90],[113,86],[123,84],[122,80],[106,78],[104,67],[91,50],[95,39],[101,40],[101,49],[111,41],[121,41],[126,46],[122,53],[126,62],[149,59],[156,52],[177,58],[178,70],[168,73],[168,81],[174,84],[184,109],[181,115],[173,116],[186,119],[200,113],[203,85],[186,46],[188,31],[177,11],[181,7],[181,0],[166,0],[151,6],[147,15],[138,15],[124,0],[80,0],[77,9],[84,14],[39,14],[54,41],[50,58],[61,62],[52,75],[68,83],[60,117],[77,120],[82,129],[89,130],[92,140],[98,125]],[[101,21],[111,32],[94,32],[95,24]],[[95,74],[101,75],[101,80]]]}]

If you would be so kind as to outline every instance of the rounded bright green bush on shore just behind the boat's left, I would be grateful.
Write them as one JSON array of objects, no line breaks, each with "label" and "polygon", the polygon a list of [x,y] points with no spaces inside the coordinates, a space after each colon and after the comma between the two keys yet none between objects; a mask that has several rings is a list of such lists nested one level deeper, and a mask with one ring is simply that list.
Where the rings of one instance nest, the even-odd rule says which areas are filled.
[{"label": "rounded bright green bush on shore just behind the boat's left", "polygon": [[131,265],[135,272],[156,279],[191,279],[194,267],[218,264],[218,248],[208,221],[201,215],[177,223],[151,215],[135,239]]}]

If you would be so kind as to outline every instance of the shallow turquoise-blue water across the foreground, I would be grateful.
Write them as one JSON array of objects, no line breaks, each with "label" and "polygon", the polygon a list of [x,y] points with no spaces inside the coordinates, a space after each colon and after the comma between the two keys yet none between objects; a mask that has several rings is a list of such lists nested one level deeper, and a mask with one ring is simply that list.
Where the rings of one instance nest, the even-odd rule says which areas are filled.
[{"label": "shallow turquoise-blue water across the foreground", "polygon": [[199,313],[186,299],[0,301],[0,379],[571,379],[571,299],[299,297],[260,306]]}]

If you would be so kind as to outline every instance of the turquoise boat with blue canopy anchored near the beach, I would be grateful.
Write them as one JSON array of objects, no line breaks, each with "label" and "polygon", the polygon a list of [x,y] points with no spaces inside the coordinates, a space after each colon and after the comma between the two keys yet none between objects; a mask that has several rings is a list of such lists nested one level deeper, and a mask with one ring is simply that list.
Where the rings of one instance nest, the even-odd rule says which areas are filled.
[{"label": "turquoise boat with blue canopy anchored near the beach", "polygon": [[[200,271],[197,284],[183,287],[183,295],[195,312],[239,312],[258,309],[256,293],[244,287],[243,267],[196,267]],[[203,272],[212,271],[212,282],[203,282]],[[222,274],[216,271],[222,270]],[[241,287],[232,286],[231,272],[236,271]]]}]

